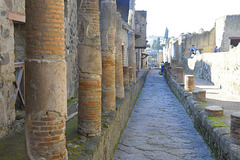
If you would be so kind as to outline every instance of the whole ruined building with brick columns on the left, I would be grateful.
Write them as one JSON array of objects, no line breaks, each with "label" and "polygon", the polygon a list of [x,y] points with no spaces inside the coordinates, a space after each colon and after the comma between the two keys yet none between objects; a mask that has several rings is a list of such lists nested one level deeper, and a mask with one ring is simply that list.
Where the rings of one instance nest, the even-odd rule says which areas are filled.
[{"label": "whole ruined building with brick columns on the left", "polygon": [[67,158],[74,97],[78,132],[100,135],[102,113],[145,67],[146,15],[135,0],[0,1],[0,137],[22,110],[27,157]]}]

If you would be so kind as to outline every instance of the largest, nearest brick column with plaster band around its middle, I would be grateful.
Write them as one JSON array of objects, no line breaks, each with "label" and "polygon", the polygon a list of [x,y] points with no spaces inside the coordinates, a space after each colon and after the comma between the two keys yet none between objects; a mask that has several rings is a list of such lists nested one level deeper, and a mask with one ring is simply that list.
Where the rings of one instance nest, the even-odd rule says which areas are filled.
[{"label": "largest, nearest brick column with plaster band around its middle", "polygon": [[64,1],[26,0],[26,157],[67,159]]}]

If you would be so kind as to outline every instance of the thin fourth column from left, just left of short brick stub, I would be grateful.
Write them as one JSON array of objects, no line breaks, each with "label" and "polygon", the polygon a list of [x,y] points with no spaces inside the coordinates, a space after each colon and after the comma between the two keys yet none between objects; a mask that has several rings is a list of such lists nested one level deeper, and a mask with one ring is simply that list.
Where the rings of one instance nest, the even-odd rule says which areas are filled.
[{"label": "thin fourth column from left, just left of short brick stub", "polygon": [[122,18],[121,14],[117,12],[116,15],[116,60],[115,60],[115,85],[116,97],[124,97],[124,82],[123,82],[123,61],[122,61]]}]

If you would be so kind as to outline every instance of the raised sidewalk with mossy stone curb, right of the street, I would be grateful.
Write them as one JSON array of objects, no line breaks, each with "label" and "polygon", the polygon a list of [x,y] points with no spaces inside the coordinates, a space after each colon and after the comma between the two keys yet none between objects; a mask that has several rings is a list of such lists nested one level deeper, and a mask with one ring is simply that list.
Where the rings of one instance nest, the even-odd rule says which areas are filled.
[{"label": "raised sidewalk with mossy stone curb, right of the street", "polygon": [[[197,102],[192,99],[192,93],[185,91],[168,70],[165,70],[165,78],[172,92],[191,117],[195,128],[210,146],[215,157],[217,159],[239,160],[240,145],[234,144],[231,140],[230,116],[232,113],[240,111],[240,97],[195,78],[195,90],[206,90],[206,102]],[[205,107],[213,105],[224,108],[223,117],[208,117]]]}]

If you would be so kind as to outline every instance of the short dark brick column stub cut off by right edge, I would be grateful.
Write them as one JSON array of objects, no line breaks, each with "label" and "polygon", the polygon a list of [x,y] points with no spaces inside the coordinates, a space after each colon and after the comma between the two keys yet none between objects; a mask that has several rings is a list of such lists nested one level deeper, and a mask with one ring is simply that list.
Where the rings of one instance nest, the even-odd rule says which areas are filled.
[{"label": "short dark brick column stub cut off by right edge", "polygon": [[235,144],[240,144],[240,112],[231,114],[231,139]]}]

